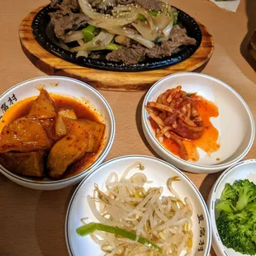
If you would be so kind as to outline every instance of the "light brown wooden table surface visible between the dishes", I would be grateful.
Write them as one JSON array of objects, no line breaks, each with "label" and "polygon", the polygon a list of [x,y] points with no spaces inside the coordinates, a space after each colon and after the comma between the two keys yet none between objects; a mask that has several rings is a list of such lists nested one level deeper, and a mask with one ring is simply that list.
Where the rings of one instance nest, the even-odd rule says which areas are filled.
[{"label": "light brown wooden table surface visible between the dishes", "polygon": [[[0,93],[22,80],[45,75],[36,69],[21,50],[18,26],[28,12],[45,0],[1,0]],[[216,49],[202,71],[230,84],[256,115],[256,75],[240,53],[240,45],[256,28],[256,1],[241,0],[236,13],[226,12],[206,0],[172,0],[173,6],[197,17],[215,37]],[[254,17],[253,17],[254,15]],[[248,21],[249,19],[249,21]],[[140,121],[145,92],[101,91],[116,117],[116,139],[107,159],[125,154],[154,155],[145,140]],[[246,159],[256,157],[256,146]],[[206,199],[220,173],[186,173]],[[75,187],[41,192],[18,186],[0,174],[0,255],[68,255],[64,239],[64,220]],[[214,254],[211,250],[211,255]],[[88,255],[91,256],[91,255]],[[97,256],[97,255],[93,255]]]}]

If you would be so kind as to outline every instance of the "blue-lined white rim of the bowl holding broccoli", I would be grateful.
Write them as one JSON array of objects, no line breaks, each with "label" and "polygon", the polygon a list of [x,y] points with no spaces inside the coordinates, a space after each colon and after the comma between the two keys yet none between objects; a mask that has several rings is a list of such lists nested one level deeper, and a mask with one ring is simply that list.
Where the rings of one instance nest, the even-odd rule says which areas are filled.
[{"label": "blue-lined white rim of the bowl holding broccoli", "polygon": [[236,164],[230,166],[230,168],[227,168],[223,173],[221,173],[220,177],[217,178],[216,183],[214,183],[214,185],[211,187],[211,193],[207,199],[207,207],[208,207],[208,211],[209,211],[209,215],[210,215],[210,219],[211,219],[213,247],[218,248],[221,256],[226,256],[227,254],[225,252],[225,245],[222,243],[218,229],[216,227],[216,215],[215,215],[215,207],[214,207],[214,202],[216,201],[216,192],[218,191],[218,189],[220,187],[220,183],[227,175],[229,175],[238,166],[247,165],[249,163],[256,164],[256,159],[247,159],[247,160],[241,161],[239,163],[236,163]]}]

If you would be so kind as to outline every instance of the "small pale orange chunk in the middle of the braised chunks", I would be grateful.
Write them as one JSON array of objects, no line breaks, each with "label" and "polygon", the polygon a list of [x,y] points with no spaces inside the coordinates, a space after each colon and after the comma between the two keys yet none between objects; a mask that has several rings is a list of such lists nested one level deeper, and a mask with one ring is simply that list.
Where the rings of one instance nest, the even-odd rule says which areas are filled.
[{"label": "small pale orange chunk in the middle of the braised chunks", "polygon": [[63,117],[67,117],[70,119],[78,119],[73,109],[64,109],[58,112],[58,116],[56,117],[55,122],[55,132],[58,136],[67,135],[68,131],[64,124]]}]

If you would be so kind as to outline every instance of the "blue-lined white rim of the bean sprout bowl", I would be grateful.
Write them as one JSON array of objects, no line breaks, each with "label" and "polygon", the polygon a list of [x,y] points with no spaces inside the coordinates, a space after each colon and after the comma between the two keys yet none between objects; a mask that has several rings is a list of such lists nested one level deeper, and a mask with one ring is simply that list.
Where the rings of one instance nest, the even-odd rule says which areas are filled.
[{"label": "blue-lined white rim of the bean sprout bowl", "polygon": [[104,168],[106,165],[112,164],[114,162],[118,162],[121,159],[136,159],[136,158],[153,160],[155,162],[159,162],[159,164],[164,164],[164,165],[168,166],[168,168],[173,168],[179,175],[181,175],[187,181],[187,183],[191,184],[193,191],[197,194],[198,201],[201,202],[201,206],[205,210],[205,213],[206,213],[206,220],[207,220],[206,221],[206,226],[209,230],[209,235],[208,235],[208,239],[207,239],[207,248],[206,248],[206,254],[205,255],[206,256],[209,255],[210,251],[211,251],[211,240],[212,240],[211,218],[210,218],[210,213],[208,211],[208,208],[206,206],[206,201],[202,197],[201,192],[199,191],[197,186],[192,182],[192,180],[190,178],[188,178],[185,173],[183,173],[180,169],[175,167],[173,164],[169,164],[168,162],[166,162],[162,159],[158,159],[156,157],[152,157],[152,156],[149,156],[149,155],[143,155],[143,154],[127,154],[127,155],[116,157],[114,159],[110,159],[110,160],[100,164],[92,172],[88,173],[88,175],[85,178],[83,178],[81,183],[78,184],[78,187],[75,189],[75,191],[73,192],[72,197],[70,198],[69,206],[68,206],[67,213],[66,213],[66,218],[65,218],[65,227],[64,227],[64,229],[65,229],[65,240],[66,240],[66,246],[67,246],[68,251],[69,251],[69,255],[74,256],[74,254],[71,250],[70,242],[69,242],[69,228],[68,228],[69,215],[70,215],[71,207],[73,206],[73,201],[77,197],[78,190],[80,189],[80,187],[83,185],[83,183],[85,183],[85,181],[88,178],[90,178],[92,176],[93,173],[101,172],[101,169]]}]

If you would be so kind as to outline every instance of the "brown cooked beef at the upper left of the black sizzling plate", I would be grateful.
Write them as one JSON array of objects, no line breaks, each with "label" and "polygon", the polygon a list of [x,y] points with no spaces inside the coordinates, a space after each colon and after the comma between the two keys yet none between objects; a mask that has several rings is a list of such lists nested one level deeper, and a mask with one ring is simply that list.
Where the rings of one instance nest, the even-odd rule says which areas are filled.
[{"label": "brown cooked beef at the upper left of the black sizzling plate", "polygon": [[64,39],[64,35],[69,31],[76,31],[79,27],[86,25],[89,17],[83,13],[69,13],[62,15],[60,11],[51,12],[50,22],[54,26],[55,35],[60,39]]}]

